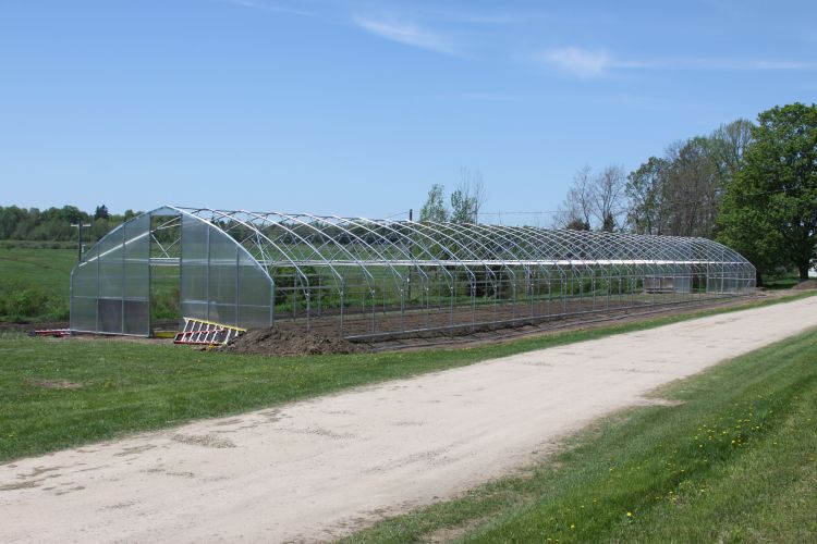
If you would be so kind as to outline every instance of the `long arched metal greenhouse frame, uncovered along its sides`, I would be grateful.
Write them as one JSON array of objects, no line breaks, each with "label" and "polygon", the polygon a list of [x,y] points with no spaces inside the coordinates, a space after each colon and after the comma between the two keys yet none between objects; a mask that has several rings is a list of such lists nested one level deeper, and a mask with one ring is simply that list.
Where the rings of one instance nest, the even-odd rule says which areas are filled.
[{"label": "long arched metal greenhouse frame, uncovered along its sides", "polygon": [[71,274],[71,329],[149,336],[157,312],[346,338],[456,334],[747,295],[704,238],[164,206]]}]

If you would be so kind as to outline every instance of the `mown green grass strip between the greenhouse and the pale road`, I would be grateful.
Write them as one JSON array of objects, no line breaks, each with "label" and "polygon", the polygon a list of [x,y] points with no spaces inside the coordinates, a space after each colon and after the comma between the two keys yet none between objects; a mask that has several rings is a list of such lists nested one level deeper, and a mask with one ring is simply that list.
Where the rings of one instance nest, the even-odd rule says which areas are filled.
[{"label": "mown green grass strip between the greenhouse and the pale road", "polygon": [[398,354],[265,358],[7,334],[0,336],[0,461],[809,295],[475,348]]}]

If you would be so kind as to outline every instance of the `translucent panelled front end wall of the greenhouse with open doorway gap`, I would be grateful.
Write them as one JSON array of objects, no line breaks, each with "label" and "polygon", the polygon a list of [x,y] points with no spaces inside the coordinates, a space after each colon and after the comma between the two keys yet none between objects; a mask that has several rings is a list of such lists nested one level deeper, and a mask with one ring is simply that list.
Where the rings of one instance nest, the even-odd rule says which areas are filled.
[{"label": "translucent panelled front end wall of the greenhouse with open doorway gap", "polygon": [[[161,244],[156,219],[175,228],[174,242]],[[160,208],[112,230],[83,255],[71,274],[71,329],[149,336],[155,267],[179,271],[183,317],[242,329],[272,323],[272,280],[253,256],[207,221]]]}]

